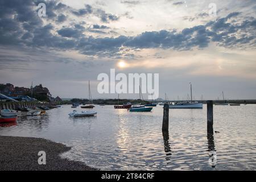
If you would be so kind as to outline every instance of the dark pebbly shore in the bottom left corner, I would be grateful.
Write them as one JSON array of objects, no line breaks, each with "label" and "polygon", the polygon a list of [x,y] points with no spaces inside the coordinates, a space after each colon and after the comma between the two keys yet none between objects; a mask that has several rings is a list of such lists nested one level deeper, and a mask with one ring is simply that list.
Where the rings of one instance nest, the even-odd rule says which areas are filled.
[{"label": "dark pebbly shore in the bottom left corner", "polygon": [[[43,138],[0,136],[0,171],[96,171],[82,162],[60,154],[71,150],[64,144]],[[39,165],[39,151],[46,152],[46,165]]]}]

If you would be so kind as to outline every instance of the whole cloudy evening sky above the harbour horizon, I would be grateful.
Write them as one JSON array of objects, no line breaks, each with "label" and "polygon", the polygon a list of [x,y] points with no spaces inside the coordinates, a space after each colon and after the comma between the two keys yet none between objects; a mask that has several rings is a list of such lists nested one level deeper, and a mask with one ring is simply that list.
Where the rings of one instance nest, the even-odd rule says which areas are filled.
[{"label": "whole cloudy evening sky above the harbour horizon", "polygon": [[98,74],[115,68],[159,73],[159,97],[171,100],[189,82],[196,99],[256,98],[255,12],[255,0],[1,0],[0,82],[86,98],[90,80],[94,98],[115,98],[97,92]]}]

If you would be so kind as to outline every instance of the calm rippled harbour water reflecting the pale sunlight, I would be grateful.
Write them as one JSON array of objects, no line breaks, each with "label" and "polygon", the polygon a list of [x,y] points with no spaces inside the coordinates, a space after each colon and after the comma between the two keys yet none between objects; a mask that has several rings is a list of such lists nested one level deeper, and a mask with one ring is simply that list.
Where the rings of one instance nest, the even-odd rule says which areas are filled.
[{"label": "calm rippled harbour water reflecting the pale sunlight", "polygon": [[[39,137],[73,146],[63,157],[106,170],[255,170],[256,105],[214,106],[214,133],[207,136],[207,110],[170,110],[162,133],[162,106],[129,113],[96,106],[97,117],[69,118],[71,106],[23,117],[0,135]],[[217,164],[210,164],[209,150]],[[215,166],[213,168],[213,166]]]}]

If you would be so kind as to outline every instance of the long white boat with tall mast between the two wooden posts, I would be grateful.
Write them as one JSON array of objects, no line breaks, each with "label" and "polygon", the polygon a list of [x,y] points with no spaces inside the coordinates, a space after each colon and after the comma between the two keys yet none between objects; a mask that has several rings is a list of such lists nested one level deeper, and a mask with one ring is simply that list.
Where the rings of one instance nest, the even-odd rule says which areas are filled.
[{"label": "long white boat with tall mast between the two wooden posts", "polygon": [[170,104],[169,109],[202,109],[203,103],[194,102],[192,97],[192,84],[190,84],[190,92],[191,92],[191,101],[190,102],[179,102],[175,104]]}]

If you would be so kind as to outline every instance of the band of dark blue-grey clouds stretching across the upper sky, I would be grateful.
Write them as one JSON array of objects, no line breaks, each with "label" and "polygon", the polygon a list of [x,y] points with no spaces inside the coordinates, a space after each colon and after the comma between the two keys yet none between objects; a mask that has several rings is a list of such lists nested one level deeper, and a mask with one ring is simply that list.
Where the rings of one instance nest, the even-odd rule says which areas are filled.
[{"label": "band of dark blue-grey clouds stretching across the upper sky", "polygon": [[[5,3],[3,3],[5,2]],[[246,47],[255,42],[256,19],[237,22],[236,16],[240,13],[234,12],[225,18],[210,21],[201,26],[184,28],[182,31],[150,31],[143,32],[137,36],[118,36],[117,38],[94,38],[86,36],[85,32],[96,32],[106,34],[104,30],[108,27],[94,24],[93,28],[83,27],[81,24],[72,24],[69,27],[62,27],[57,30],[53,24],[43,25],[33,11],[33,3],[18,3],[12,6],[8,1],[1,1],[9,11],[1,12],[0,19],[0,44],[15,44],[33,48],[67,50],[73,49],[85,55],[120,57],[132,56],[129,53],[122,53],[122,47],[130,49],[162,48],[174,50],[203,49],[210,42],[218,46],[232,48],[234,46]],[[51,3],[52,10],[64,7],[60,3]],[[24,7],[23,7],[24,6]],[[88,11],[91,6],[85,6]],[[22,14],[21,10],[27,10]],[[102,21],[117,20],[118,17],[97,9],[97,14]],[[15,16],[13,16],[15,15]],[[25,16],[26,15],[26,16]],[[204,16],[204,14],[201,14]],[[233,18],[233,19],[232,19]],[[230,21],[232,19],[232,21]],[[254,45],[255,46],[255,45]]]}]

